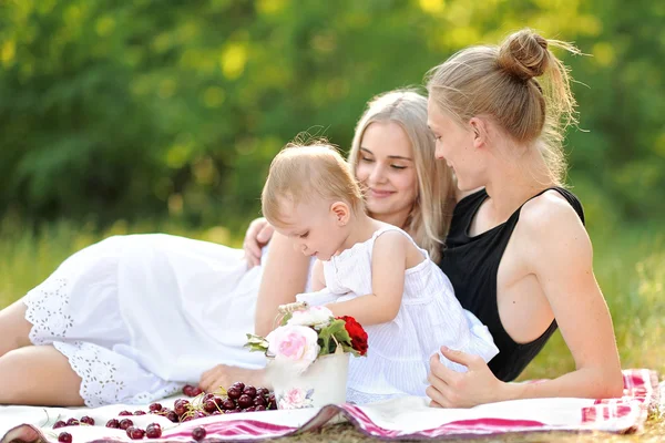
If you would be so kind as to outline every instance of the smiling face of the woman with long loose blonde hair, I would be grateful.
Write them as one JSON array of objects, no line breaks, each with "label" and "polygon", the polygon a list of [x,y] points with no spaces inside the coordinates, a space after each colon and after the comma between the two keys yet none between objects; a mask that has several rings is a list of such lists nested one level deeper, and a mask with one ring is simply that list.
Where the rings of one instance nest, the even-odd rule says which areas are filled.
[{"label": "smiling face of the woman with long loose blonde hair", "polygon": [[403,226],[418,197],[413,147],[395,122],[374,122],[360,141],[356,177],[365,187],[369,214]]}]

